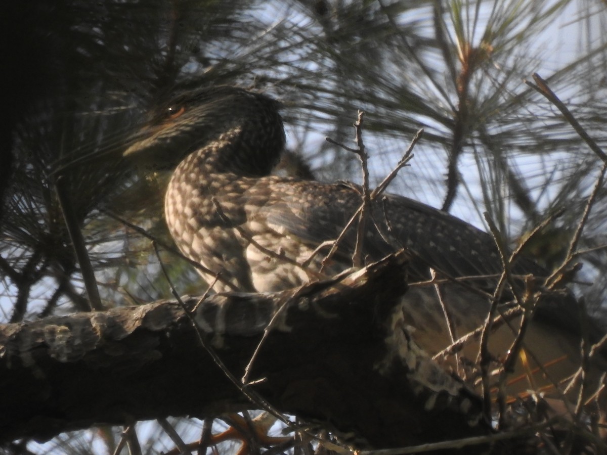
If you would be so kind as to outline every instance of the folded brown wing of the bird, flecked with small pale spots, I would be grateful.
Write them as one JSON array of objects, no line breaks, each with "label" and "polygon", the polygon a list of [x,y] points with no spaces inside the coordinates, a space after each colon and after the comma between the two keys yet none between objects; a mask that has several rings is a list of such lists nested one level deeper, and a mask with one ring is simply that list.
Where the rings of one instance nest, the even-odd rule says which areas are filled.
[{"label": "folded brown wing of the bird, flecked with small pale spots", "polygon": [[[273,195],[259,216],[274,229],[287,231],[316,246],[335,240],[361,206],[357,187],[344,184],[276,181]],[[459,218],[398,195],[373,202],[367,217],[364,256],[379,260],[406,248],[412,252],[415,271],[427,277],[429,268],[452,277],[498,274],[501,260],[493,238]],[[356,223],[339,244],[342,258],[351,257]],[[543,274],[532,261],[522,260],[519,274]]]}]

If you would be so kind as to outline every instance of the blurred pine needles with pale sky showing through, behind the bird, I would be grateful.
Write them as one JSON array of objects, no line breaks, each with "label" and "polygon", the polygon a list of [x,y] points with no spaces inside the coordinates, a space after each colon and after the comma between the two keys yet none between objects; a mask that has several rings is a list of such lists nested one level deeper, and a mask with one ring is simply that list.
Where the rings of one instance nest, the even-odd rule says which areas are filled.
[{"label": "blurred pine needles with pale sky showing through, behind the bird", "polygon": [[[121,153],[146,110],[177,86],[239,84],[280,99],[289,146],[325,180],[359,180],[356,157],[323,139],[350,141],[357,109],[376,181],[424,127],[390,191],[479,226],[488,212],[513,244],[564,209],[527,245],[549,268],[565,257],[603,164],[523,79],[539,72],[605,149],[605,2],[33,0],[4,2],[0,16],[10,76],[0,126],[2,322],[169,295],[150,238],[133,227],[171,244],[167,176],[144,177]],[[576,257],[579,281],[592,282],[576,292],[597,311],[607,298],[605,220],[601,189]],[[161,250],[180,292],[202,292],[191,266]],[[173,423],[183,439],[203,426]],[[154,428],[143,431],[142,452],[172,447]],[[98,428],[19,447],[94,453],[120,438]]]}]

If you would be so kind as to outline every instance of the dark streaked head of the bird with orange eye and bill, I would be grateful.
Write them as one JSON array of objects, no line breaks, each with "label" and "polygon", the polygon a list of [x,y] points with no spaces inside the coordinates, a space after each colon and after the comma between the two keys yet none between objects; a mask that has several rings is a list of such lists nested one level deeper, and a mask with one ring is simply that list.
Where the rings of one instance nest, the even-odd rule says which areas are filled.
[{"label": "dark streaked head of the bird with orange eye and bill", "polygon": [[174,169],[190,153],[202,151],[218,170],[266,175],[285,145],[278,109],[273,99],[236,87],[180,93],[153,110],[124,157]]}]

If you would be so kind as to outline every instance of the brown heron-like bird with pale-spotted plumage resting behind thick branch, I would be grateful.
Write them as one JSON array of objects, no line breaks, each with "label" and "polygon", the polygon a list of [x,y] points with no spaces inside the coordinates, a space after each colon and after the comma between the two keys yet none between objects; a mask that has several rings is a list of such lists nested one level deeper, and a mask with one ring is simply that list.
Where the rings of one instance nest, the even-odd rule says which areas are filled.
[{"label": "brown heron-like bird with pale-spotted plumage resting behind thick branch", "polygon": [[[239,87],[186,90],[152,110],[124,157],[172,171],[166,223],[180,251],[203,266],[203,278],[216,292],[276,292],[331,277],[352,268],[357,242],[363,263],[399,249],[409,252],[403,277],[409,290],[393,326],[409,331],[445,368],[463,374],[464,361],[478,358],[478,337],[456,356],[439,354],[487,319],[490,294],[503,272],[493,236],[419,201],[383,194],[371,201],[357,240],[356,226],[346,226],[361,206],[360,186],[272,174],[285,149],[280,109],[270,96]],[[337,238],[336,251],[327,257]],[[511,272],[537,277],[536,283],[549,275],[524,257]],[[433,280],[437,276],[445,279]],[[504,292],[500,309],[517,308],[513,295],[532,292],[530,282],[519,280],[510,295]],[[561,390],[560,383],[580,366],[583,328],[591,327],[593,339],[600,336],[583,319],[566,288],[540,299],[524,338],[525,357],[512,375],[518,378],[512,380],[513,396],[531,388]],[[496,365],[507,356],[520,321],[519,315],[491,335]]]}]

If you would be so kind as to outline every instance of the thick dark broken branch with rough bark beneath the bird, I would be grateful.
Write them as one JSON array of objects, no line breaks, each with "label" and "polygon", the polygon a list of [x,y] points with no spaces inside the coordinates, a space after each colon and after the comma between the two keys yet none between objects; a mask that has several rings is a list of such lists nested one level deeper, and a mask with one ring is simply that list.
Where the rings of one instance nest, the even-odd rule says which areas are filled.
[{"label": "thick dark broken branch with rough bark beneath the bird", "polygon": [[[193,313],[238,378],[264,329],[251,386],[284,413],[399,447],[487,434],[480,400],[419,351],[390,315],[402,257],[274,295],[224,294]],[[187,298],[194,308],[197,298]],[[249,402],[202,346],[177,302],[0,326],[0,440],[46,439],[95,423],[217,415]]]}]

